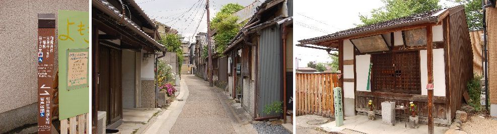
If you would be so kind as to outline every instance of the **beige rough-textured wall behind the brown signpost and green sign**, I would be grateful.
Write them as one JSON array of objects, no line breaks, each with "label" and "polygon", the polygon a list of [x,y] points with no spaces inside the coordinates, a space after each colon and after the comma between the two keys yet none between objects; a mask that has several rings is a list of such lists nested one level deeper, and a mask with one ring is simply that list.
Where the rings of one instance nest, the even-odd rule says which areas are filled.
[{"label": "beige rough-textured wall behind the brown signpost and green sign", "polygon": [[[37,121],[38,14],[89,11],[88,1],[0,1],[0,133]],[[56,23],[56,25],[58,25]],[[57,33],[57,29],[55,29]],[[57,35],[55,35],[57,38]],[[57,40],[55,40],[57,44]],[[57,68],[57,47],[55,69]],[[13,112],[16,111],[16,112]]]}]

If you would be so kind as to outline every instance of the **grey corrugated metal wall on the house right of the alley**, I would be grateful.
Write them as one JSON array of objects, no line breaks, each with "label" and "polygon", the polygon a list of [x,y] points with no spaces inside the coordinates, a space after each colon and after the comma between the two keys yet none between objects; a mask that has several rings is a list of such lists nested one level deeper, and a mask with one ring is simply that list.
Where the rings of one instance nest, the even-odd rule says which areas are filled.
[{"label": "grey corrugated metal wall on the house right of the alley", "polygon": [[259,41],[259,117],[277,116],[262,112],[265,105],[281,101],[281,34],[279,27],[267,27],[261,31]]}]

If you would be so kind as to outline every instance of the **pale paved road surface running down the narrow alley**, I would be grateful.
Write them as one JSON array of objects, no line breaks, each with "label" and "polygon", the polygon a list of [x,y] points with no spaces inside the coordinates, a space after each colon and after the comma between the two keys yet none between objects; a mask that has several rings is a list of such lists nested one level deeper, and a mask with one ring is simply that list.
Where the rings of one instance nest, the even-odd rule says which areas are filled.
[{"label": "pale paved road surface running down the narrow alley", "polygon": [[186,104],[170,133],[236,133],[235,122],[218,97],[219,91],[192,75],[185,75]]}]

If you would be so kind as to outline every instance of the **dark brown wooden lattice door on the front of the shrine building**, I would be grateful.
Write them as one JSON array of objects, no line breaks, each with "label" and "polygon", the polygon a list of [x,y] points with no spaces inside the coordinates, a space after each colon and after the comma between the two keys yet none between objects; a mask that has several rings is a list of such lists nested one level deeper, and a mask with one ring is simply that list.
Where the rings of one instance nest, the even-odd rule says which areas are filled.
[{"label": "dark brown wooden lattice door on the front of the shrine building", "polygon": [[419,51],[372,54],[375,92],[420,94]]}]

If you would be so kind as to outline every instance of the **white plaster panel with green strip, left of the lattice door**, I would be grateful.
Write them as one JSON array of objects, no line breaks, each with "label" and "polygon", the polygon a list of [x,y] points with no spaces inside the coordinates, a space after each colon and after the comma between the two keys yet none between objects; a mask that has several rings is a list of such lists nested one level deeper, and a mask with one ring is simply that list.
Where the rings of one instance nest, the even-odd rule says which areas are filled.
[{"label": "white plaster panel with green strip, left of the lattice door", "polygon": [[[356,55],[356,75],[357,75],[357,91],[366,90],[368,84],[369,63],[371,62],[371,55]],[[369,90],[368,92],[371,92]]]}]

